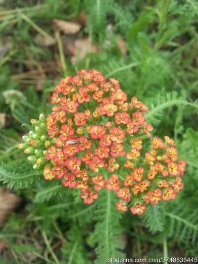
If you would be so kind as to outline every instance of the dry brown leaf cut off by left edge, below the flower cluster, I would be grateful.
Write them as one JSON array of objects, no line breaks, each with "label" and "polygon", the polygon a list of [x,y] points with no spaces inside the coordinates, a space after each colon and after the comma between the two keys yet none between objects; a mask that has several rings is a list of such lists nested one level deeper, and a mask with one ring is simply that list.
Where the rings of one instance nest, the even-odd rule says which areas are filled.
[{"label": "dry brown leaf cut off by left edge, below the flower cluster", "polygon": [[5,223],[7,216],[16,209],[22,199],[7,189],[0,188],[0,227]]}]

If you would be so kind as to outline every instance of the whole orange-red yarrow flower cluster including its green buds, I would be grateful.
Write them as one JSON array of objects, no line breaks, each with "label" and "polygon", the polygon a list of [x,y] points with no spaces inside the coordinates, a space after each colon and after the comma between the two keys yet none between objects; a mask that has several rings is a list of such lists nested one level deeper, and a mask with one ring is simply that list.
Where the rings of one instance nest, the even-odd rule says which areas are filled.
[{"label": "whole orange-red yarrow flower cluster including its green buds", "polygon": [[112,190],[119,199],[117,210],[127,211],[129,205],[138,215],[147,204],[175,199],[183,189],[186,162],[177,161],[173,139],[146,142],[153,130],[144,116],[148,107],[137,97],[127,103],[114,78],[106,82],[95,69],[79,70],[60,80],[51,103],[52,112],[46,119],[43,114],[31,119],[35,131],[19,145],[34,154],[28,159],[34,168],[44,168],[46,180],[61,179],[66,188],[78,188],[85,204],[94,203],[101,189]]}]

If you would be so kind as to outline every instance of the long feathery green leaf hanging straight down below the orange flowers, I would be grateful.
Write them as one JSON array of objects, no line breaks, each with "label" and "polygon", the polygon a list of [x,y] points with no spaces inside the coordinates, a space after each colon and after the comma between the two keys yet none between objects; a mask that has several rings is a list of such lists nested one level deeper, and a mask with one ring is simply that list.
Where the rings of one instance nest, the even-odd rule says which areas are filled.
[{"label": "long feathery green leaf hanging straight down below the orange flowers", "polygon": [[115,208],[116,196],[111,191],[103,190],[99,199],[97,200],[97,211],[95,220],[95,242],[97,247],[95,249],[98,259],[95,264],[103,264],[107,258],[121,259],[124,258],[122,249],[123,243],[119,239],[122,232],[122,226],[119,219],[121,214]]}]

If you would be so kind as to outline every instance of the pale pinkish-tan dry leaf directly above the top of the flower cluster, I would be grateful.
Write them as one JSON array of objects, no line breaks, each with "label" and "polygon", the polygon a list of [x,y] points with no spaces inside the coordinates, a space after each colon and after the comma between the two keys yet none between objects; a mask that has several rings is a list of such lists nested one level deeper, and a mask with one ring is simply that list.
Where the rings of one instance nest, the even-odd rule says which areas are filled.
[{"label": "pale pinkish-tan dry leaf directly above the top of the flower cluster", "polygon": [[87,37],[77,39],[74,42],[74,55],[70,58],[70,61],[75,63],[78,59],[83,59],[88,52],[97,54],[98,45],[91,45],[91,49],[89,51],[89,39]]}]

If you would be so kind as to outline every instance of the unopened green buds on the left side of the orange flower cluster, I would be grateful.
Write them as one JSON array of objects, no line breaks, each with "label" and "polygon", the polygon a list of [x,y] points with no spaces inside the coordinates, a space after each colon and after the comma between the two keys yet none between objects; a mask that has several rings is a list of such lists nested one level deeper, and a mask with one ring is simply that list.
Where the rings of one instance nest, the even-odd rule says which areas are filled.
[{"label": "unopened green buds on the left side of the orange flower cluster", "polygon": [[18,145],[19,149],[24,153],[30,154],[28,160],[33,163],[34,169],[42,169],[49,160],[45,158],[45,153],[52,145],[52,141],[48,135],[47,121],[43,113],[40,114],[39,120],[31,119],[33,129],[28,135],[22,137],[23,143]]}]

